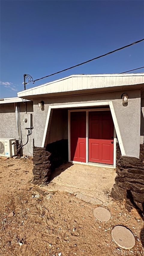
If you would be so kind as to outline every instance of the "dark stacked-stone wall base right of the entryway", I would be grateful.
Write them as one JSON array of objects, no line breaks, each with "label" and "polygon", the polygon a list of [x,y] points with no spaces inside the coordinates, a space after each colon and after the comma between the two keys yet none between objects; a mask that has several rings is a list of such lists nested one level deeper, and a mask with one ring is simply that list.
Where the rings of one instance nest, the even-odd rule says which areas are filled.
[{"label": "dark stacked-stone wall base right of the entryway", "polygon": [[135,207],[143,212],[144,164],[135,157],[120,156],[116,167],[116,184],[111,195],[116,200],[126,200],[127,209]]}]

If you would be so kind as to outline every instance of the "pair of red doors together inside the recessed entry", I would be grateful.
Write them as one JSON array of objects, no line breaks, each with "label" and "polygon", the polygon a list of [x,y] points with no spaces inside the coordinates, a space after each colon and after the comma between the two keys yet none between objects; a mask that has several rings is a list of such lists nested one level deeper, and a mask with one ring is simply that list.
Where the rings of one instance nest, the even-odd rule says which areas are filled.
[{"label": "pair of red doors together inside the recessed entry", "polygon": [[[88,112],[88,161],[113,164],[114,125],[110,111]],[[86,162],[86,112],[70,115],[71,160]]]}]

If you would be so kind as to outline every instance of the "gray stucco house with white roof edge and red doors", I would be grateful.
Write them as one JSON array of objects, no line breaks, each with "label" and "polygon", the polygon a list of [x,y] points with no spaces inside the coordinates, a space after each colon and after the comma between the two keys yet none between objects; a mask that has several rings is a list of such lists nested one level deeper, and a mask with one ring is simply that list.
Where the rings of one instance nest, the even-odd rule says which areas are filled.
[{"label": "gray stucco house with white roof edge and red doors", "polygon": [[113,196],[126,198],[138,182],[143,208],[143,73],[71,75],[17,95],[0,100],[0,138],[16,138],[33,156],[35,184],[47,184],[63,161],[117,167]]}]

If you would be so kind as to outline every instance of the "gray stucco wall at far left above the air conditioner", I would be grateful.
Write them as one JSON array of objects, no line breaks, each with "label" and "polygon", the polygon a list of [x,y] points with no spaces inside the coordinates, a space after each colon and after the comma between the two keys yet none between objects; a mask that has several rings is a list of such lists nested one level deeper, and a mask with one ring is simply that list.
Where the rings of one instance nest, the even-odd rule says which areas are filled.
[{"label": "gray stucco wall at far left above the air conditioner", "polygon": [[[25,114],[25,104],[19,103],[20,110],[20,121],[21,121],[21,129],[22,129],[22,143],[25,144],[27,141],[27,131],[24,128],[24,114]],[[27,102],[27,113],[32,113],[33,115],[33,102]],[[23,154],[32,155],[33,154],[33,135],[29,136],[29,142],[26,146],[23,147]],[[16,115],[14,103],[0,104],[0,138],[16,138],[17,136],[17,128],[16,128]]]}]

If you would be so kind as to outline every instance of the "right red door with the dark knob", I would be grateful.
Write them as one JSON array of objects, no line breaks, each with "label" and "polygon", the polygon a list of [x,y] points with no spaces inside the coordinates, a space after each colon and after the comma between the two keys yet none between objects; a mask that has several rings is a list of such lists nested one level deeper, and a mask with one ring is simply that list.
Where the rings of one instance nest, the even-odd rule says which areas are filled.
[{"label": "right red door with the dark knob", "polygon": [[89,162],[113,164],[113,132],[110,111],[89,112]]}]

